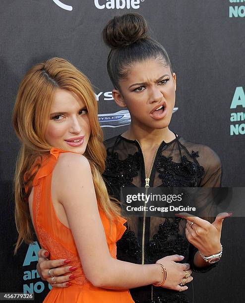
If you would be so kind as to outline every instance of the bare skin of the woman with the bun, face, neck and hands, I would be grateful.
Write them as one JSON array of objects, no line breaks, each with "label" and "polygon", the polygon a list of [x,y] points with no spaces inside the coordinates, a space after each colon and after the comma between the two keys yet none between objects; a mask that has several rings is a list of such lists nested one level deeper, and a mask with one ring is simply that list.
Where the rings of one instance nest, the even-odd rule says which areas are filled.
[{"label": "bare skin of the woman with the bun, face, neck and hands", "polygon": [[[145,156],[148,175],[153,155],[159,144],[162,140],[170,142],[175,139],[175,134],[168,126],[175,105],[176,74],[172,74],[170,67],[163,64],[163,62],[152,59],[135,63],[133,67],[127,70],[126,79],[120,80],[119,84],[120,90],[113,90],[113,97],[120,107],[127,107],[131,115],[131,124],[122,136],[139,141]],[[163,102],[167,107],[166,116],[163,119],[152,118],[151,111]],[[185,234],[187,240],[206,256],[219,253],[221,250],[222,222],[229,215],[228,213],[219,214],[212,224],[197,217],[184,217],[189,222],[193,222],[191,221],[193,218],[196,220],[191,230],[189,222],[186,223]],[[63,265],[63,260],[48,261],[48,255],[49,253],[45,250],[39,252],[37,268],[40,276],[44,279],[48,278],[47,280],[50,282],[51,278],[48,277],[48,270]],[[172,257],[168,256],[167,258]],[[196,267],[209,266],[199,253],[194,256],[194,265]],[[54,268],[52,269],[52,275],[62,275],[69,272],[69,269],[70,266]],[[176,275],[178,276],[177,272]],[[57,284],[54,286],[66,287],[66,281],[68,281],[67,276],[57,277]],[[176,290],[179,289],[180,287],[176,288]]]}]

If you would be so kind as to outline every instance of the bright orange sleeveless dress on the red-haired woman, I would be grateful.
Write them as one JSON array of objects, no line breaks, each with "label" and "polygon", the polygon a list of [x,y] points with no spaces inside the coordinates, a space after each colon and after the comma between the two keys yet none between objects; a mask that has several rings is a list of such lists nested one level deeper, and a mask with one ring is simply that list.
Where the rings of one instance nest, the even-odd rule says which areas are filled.
[{"label": "bright orange sleeveless dress on the red-haired woman", "polygon": [[[43,248],[50,252],[50,258],[69,259],[71,260],[69,265],[76,266],[78,269],[72,272],[76,277],[70,281],[69,287],[52,288],[44,302],[133,303],[128,290],[98,288],[93,286],[85,277],[71,230],[63,225],[57,217],[51,199],[52,172],[61,152],[65,151],[53,148],[33,180],[33,221],[39,242]],[[126,220],[120,217],[117,223],[113,222],[110,233],[109,220],[102,210],[99,210],[99,213],[105,229],[109,251],[112,257],[116,258],[116,242],[121,239],[126,229],[123,225]]]}]

